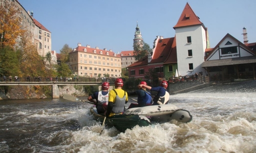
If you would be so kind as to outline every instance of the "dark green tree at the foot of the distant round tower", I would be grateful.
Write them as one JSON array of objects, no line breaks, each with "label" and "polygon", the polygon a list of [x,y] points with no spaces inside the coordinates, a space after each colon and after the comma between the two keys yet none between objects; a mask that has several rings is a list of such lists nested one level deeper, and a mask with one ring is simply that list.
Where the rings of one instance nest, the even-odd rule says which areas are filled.
[{"label": "dark green tree at the foot of the distant round tower", "polygon": [[134,44],[133,49],[134,49],[133,54],[136,61],[147,56],[152,51],[152,49],[150,48],[150,45],[148,45],[144,41],[141,44],[140,43]]}]

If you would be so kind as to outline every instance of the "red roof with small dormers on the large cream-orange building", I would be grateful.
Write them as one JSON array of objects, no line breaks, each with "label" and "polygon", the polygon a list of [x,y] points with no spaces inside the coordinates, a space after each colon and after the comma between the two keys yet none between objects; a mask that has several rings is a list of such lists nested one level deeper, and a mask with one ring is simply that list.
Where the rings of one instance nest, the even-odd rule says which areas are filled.
[{"label": "red roof with small dormers on the large cream-orange building", "polygon": [[[73,50],[73,51],[70,52],[69,54],[74,53],[74,52],[84,52],[84,48],[86,48],[86,52],[87,52],[87,53],[96,54],[96,55],[105,55],[105,56],[110,56],[110,57],[119,57],[119,58],[121,58],[119,54],[116,54],[116,56],[115,56],[115,53],[114,53],[114,52],[111,52],[111,51],[108,51],[108,50],[96,49],[96,48],[84,47],[84,46],[77,46],[77,47],[75,48],[75,50]],[[94,50],[96,50],[96,53],[94,53]],[[102,52],[102,54],[100,54],[100,52]],[[109,53],[109,55],[107,55],[107,53]]]}]

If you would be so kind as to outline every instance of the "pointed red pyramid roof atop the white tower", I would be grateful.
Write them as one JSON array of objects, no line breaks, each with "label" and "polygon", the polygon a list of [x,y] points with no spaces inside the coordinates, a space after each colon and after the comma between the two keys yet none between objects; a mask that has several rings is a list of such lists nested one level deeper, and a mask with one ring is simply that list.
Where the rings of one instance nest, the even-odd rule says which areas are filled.
[{"label": "pointed red pyramid roof atop the white tower", "polygon": [[198,24],[203,25],[203,23],[199,20],[199,17],[194,13],[194,11],[191,9],[189,4],[187,3],[183,12],[181,13],[181,16],[177,24],[174,26],[174,29],[178,27],[185,27],[189,25],[198,25]]}]

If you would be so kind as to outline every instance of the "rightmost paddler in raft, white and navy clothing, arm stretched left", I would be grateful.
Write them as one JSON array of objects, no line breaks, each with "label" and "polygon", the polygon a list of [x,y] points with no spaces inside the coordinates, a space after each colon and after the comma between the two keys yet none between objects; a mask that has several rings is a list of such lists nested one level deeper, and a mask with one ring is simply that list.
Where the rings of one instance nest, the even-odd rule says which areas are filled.
[{"label": "rightmost paddler in raft, white and navy clothing, arm stretched left", "polygon": [[148,90],[151,91],[157,91],[157,94],[153,98],[153,105],[163,105],[168,104],[169,101],[169,93],[166,91],[166,88],[168,87],[167,81],[163,80],[160,83],[159,87],[151,87],[147,85],[138,85],[139,88],[145,87]]}]

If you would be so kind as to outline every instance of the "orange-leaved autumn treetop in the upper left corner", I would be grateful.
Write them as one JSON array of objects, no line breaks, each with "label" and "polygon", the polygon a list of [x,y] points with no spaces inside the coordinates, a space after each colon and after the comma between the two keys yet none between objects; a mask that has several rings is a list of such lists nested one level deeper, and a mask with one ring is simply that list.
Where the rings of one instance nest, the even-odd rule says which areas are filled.
[{"label": "orange-leaved autumn treetop in the upper left corner", "polygon": [[23,35],[25,30],[19,21],[20,11],[13,3],[0,6],[0,47],[14,47],[17,39]]}]

